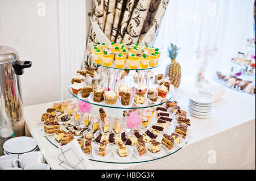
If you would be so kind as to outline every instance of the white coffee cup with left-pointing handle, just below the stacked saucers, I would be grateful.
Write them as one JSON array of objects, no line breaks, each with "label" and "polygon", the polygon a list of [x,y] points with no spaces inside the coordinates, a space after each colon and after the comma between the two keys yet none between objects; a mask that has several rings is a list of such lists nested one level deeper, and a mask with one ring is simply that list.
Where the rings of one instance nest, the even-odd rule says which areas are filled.
[{"label": "white coffee cup with left-pointing handle, just below the stacked saucers", "polygon": [[19,163],[19,167],[24,169],[27,165],[34,163],[43,163],[43,153],[41,151],[33,151],[19,155],[19,158],[14,159],[13,165]]}]

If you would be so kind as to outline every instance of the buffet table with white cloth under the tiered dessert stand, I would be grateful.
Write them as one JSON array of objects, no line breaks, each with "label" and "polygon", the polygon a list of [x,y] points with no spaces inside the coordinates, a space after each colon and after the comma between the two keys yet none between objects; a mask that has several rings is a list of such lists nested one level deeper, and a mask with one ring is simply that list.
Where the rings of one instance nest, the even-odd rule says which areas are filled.
[{"label": "buffet table with white cloth under the tiered dessert stand", "polygon": [[[212,80],[212,83],[215,83]],[[181,109],[188,110],[188,99],[197,93],[195,83],[181,82]],[[44,152],[51,169],[63,169],[56,159],[58,149],[42,136],[41,116],[52,103],[24,108],[26,127]],[[212,116],[191,119],[192,139],[188,144],[156,161],[144,163],[102,163],[91,161],[96,169],[255,169],[255,96],[226,89],[213,105]]]}]

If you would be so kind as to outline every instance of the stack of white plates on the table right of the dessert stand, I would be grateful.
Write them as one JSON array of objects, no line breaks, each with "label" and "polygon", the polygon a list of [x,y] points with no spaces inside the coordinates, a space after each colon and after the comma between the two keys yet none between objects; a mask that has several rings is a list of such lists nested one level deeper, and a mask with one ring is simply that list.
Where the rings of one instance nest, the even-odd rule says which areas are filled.
[{"label": "stack of white plates on the table right of the dessert stand", "polygon": [[189,98],[188,110],[192,116],[207,118],[212,115],[213,96],[207,94],[194,94]]}]

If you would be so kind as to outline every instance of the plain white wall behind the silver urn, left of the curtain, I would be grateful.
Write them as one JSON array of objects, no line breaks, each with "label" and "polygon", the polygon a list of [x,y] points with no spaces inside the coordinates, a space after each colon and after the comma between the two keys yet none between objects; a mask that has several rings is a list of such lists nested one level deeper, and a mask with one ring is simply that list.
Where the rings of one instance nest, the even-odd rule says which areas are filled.
[{"label": "plain white wall behind the silver urn, left of the curtain", "polygon": [[60,99],[57,0],[0,0],[0,44],[33,62],[21,77],[25,106]]}]

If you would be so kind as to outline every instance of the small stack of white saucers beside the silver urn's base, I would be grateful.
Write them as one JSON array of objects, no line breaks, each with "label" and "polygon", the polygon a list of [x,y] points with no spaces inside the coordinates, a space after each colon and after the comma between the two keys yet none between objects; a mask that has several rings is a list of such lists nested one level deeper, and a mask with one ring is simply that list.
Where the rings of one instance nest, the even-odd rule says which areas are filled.
[{"label": "small stack of white saucers beside the silver urn's base", "polygon": [[34,138],[20,136],[11,138],[3,144],[3,153],[7,154],[23,154],[31,151],[38,151],[38,145]]}]

